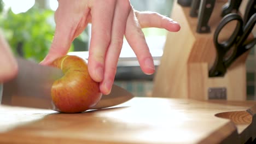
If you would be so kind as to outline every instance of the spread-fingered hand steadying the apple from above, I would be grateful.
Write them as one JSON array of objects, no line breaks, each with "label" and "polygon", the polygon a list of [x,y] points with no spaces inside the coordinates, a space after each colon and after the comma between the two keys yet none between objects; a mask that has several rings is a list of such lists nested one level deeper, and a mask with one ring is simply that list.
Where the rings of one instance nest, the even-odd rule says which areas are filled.
[{"label": "spread-fingered hand steadying the apple from above", "polygon": [[180,26],[158,13],[139,12],[128,0],[59,0],[55,12],[56,31],[49,54],[42,64],[66,55],[72,41],[92,23],[89,49],[89,74],[103,94],[108,94],[114,82],[124,35],[146,74],[155,71],[153,58],[141,28],[165,28],[177,32]]}]

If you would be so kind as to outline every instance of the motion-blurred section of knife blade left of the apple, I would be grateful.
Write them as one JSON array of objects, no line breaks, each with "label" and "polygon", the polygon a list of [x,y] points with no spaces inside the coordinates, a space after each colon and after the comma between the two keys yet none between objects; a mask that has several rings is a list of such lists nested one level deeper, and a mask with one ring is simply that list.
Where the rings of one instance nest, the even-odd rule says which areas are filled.
[{"label": "motion-blurred section of knife blade left of the apple", "polygon": [[53,109],[51,103],[48,103],[51,101],[51,86],[55,80],[63,76],[62,70],[42,66],[19,57],[16,61],[18,75],[3,83],[1,104],[38,106],[39,108],[45,105],[46,109]]}]

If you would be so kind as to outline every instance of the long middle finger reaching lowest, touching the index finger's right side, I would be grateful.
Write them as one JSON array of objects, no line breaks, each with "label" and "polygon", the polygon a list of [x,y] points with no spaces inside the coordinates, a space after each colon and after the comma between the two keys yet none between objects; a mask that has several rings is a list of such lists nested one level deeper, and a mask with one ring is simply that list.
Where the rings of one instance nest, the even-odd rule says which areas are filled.
[{"label": "long middle finger reaching lowest, touching the index finger's right side", "polygon": [[123,46],[126,21],[130,10],[131,4],[129,1],[117,1],[113,17],[111,41],[106,53],[104,78],[100,83],[100,89],[103,94],[110,93],[114,82],[118,58]]}]

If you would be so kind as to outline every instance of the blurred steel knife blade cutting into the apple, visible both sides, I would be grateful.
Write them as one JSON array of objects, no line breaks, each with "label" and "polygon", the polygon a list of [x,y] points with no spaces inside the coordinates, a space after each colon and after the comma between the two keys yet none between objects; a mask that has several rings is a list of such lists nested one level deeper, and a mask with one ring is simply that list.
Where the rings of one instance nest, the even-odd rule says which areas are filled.
[{"label": "blurred steel knife blade cutting into the apple, visible both sides", "polygon": [[[3,105],[33,107],[55,110],[51,100],[51,86],[56,79],[62,77],[58,68],[39,65],[22,58],[18,62],[18,75],[0,84],[0,103]],[[2,91],[2,92],[1,92]],[[113,85],[108,95],[102,95],[101,100],[92,109],[103,109],[119,105],[134,96],[125,89]]]}]

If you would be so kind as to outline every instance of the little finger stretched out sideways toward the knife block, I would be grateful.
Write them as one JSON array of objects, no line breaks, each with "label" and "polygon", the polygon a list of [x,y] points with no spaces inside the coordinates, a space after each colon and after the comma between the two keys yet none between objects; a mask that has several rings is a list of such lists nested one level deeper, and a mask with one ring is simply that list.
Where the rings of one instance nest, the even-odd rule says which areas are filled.
[{"label": "little finger stretched out sideways toward the knife block", "polygon": [[135,14],[139,21],[139,25],[141,25],[142,28],[165,28],[170,32],[178,32],[179,29],[181,29],[181,26],[178,22],[158,13],[135,11]]}]

